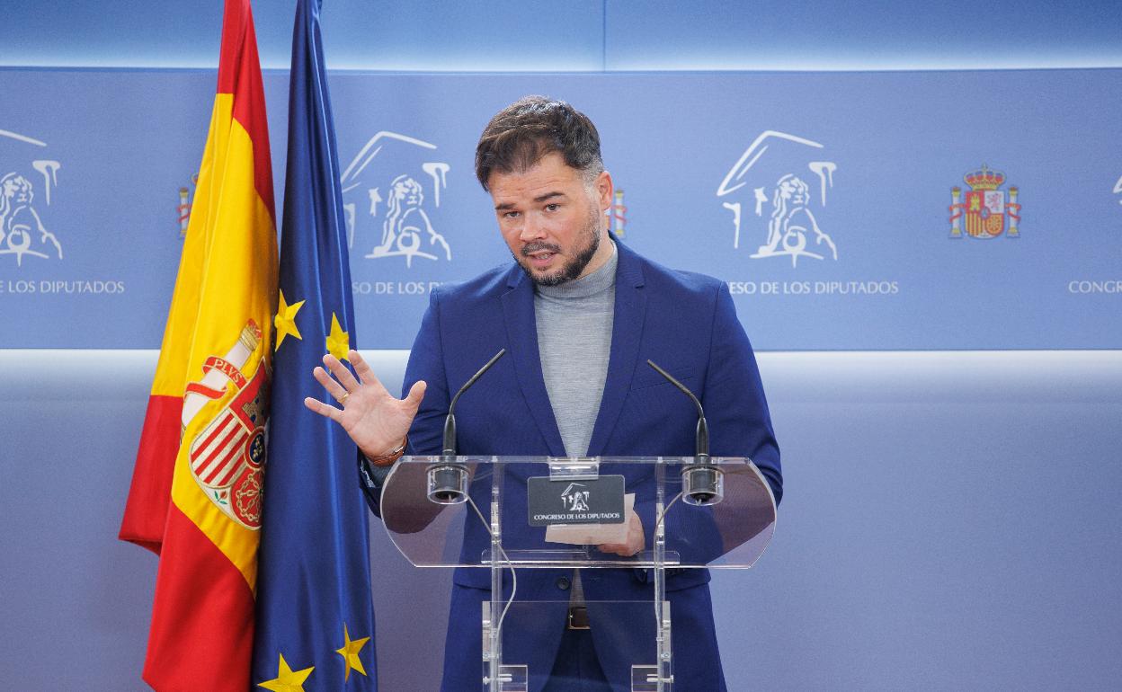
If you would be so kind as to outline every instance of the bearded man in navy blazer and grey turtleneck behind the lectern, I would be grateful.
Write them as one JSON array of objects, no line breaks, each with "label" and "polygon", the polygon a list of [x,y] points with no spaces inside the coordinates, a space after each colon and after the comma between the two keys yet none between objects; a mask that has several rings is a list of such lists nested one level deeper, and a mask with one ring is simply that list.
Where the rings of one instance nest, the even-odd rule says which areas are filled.
[{"label": "bearded man in navy blazer and grey turtleneck behind the lectern", "polygon": [[[334,379],[315,369],[341,408],[305,403],[343,425],[358,444],[367,458],[361,465],[368,495],[376,497],[386,468],[403,453],[440,453],[451,396],[505,348],[507,356],[457,405],[461,454],[692,454],[696,410],[646,367],[651,359],[701,399],[711,452],[751,456],[779,501],[779,449],[728,289],[643,259],[608,232],[611,176],[591,121],[568,103],[525,98],[484,130],[476,173],[516,265],[433,292],[410,354],[404,399],[389,395],[355,351],[349,358],[358,379],[330,356],[324,365]],[[599,550],[633,555],[650,545],[649,505],[640,509],[636,501],[624,543]],[[466,543],[484,545],[484,529],[469,523],[466,530]],[[514,530],[544,529],[507,525],[508,535]],[[725,689],[708,581],[705,570],[668,578],[678,692]],[[443,689],[475,691],[489,574],[458,570],[453,582]],[[578,588],[582,593],[573,594]],[[651,599],[652,589],[642,570],[518,573],[519,599],[641,601]],[[548,625],[535,637],[507,640],[505,658],[530,665],[531,690],[631,689],[632,662],[607,643],[607,626],[594,621],[589,629],[572,629],[563,618]],[[592,682],[563,686],[570,677]]]}]

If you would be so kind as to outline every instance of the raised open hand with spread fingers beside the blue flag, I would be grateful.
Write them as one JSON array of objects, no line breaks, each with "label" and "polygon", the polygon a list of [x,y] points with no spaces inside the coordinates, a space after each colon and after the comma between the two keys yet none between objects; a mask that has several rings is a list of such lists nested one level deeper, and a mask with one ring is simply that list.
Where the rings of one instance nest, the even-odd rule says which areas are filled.
[{"label": "raised open hand with spread fingers beside the blue flag", "polygon": [[347,359],[355,366],[358,379],[330,353],[323,357],[327,370],[318,367],[312,371],[341,408],[312,397],[305,398],[304,405],[342,425],[368,458],[385,456],[395,451],[410,432],[424,398],[425,384],[416,382],[408,396],[398,399],[386,390],[358,351],[349,351]]}]

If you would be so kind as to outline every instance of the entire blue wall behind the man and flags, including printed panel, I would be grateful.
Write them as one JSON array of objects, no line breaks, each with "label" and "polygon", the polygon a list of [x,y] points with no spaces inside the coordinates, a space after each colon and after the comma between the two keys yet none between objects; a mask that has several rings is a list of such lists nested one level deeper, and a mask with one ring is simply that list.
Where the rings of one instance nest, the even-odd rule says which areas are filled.
[{"label": "entire blue wall behind the man and flags, including printed panel", "polygon": [[[292,7],[255,11],[280,191]],[[220,21],[6,8],[13,689],[144,688],[155,560],[114,536]],[[429,287],[504,261],[475,138],[565,98],[600,127],[624,241],[729,282],[764,351],[788,492],[757,568],[715,578],[732,689],[1116,689],[1118,26],[1115,2],[329,0],[358,343],[398,382]],[[374,529],[379,676],[415,689],[447,575]]]}]

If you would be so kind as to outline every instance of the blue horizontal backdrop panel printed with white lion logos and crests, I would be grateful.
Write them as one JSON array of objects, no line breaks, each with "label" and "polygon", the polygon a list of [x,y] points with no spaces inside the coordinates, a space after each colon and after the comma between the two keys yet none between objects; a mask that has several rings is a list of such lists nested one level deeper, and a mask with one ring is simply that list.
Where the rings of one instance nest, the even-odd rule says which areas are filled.
[{"label": "blue horizontal backdrop panel printed with white lion logos and crests", "polygon": [[[6,82],[0,347],[157,348],[213,74]],[[432,286],[504,261],[475,141],[549,92],[601,130],[617,232],[727,280],[758,348],[1116,348],[1119,84],[1111,68],[337,74],[359,343],[408,348]],[[287,80],[266,89],[282,138]]]}]

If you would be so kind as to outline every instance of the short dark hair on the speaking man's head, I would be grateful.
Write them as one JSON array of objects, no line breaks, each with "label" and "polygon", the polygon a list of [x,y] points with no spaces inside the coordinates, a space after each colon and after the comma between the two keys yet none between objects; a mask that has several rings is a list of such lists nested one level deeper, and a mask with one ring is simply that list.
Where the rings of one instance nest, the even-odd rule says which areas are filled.
[{"label": "short dark hair on the speaking man's head", "polygon": [[604,170],[596,126],[564,101],[523,96],[491,118],[476,146],[476,177],[484,190],[493,172],[530,169],[558,151],[586,181]]}]

